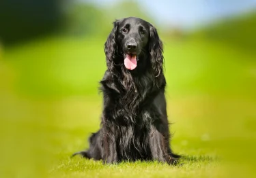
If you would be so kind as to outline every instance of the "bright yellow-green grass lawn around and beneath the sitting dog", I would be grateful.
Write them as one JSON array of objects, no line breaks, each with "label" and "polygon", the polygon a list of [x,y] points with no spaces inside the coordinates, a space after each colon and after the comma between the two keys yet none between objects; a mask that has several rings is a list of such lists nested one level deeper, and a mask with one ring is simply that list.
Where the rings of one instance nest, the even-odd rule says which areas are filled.
[{"label": "bright yellow-green grass lawn around and beneath the sitting dog", "polygon": [[255,56],[205,39],[164,41],[177,166],[71,159],[99,128],[104,40],[0,50],[0,177],[253,177]]}]

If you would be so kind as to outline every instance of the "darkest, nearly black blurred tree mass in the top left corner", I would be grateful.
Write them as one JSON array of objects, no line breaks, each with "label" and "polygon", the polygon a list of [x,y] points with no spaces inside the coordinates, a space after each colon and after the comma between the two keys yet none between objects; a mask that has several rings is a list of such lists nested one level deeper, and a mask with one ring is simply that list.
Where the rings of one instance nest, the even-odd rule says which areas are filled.
[{"label": "darkest, nearly black blurred tree mass in the top left corner", "polygon": [[61,4],[57,0],[1,0],[1,40],[16,43],[55,31],[63,17]]}]

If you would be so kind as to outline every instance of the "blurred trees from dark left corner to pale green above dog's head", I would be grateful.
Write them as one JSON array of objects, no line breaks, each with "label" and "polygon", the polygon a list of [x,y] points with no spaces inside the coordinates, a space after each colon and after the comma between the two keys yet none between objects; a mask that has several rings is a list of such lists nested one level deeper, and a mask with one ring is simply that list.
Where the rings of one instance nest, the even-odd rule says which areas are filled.
[{"label": "blurred trees from dark left corner to pale green above dog's head", "polygon": [[112,22],[126,16],[152,21],[134,1],[96,7],[88,1],[1,0],[0,40],[10,45],[51,34],[106,36]]}]

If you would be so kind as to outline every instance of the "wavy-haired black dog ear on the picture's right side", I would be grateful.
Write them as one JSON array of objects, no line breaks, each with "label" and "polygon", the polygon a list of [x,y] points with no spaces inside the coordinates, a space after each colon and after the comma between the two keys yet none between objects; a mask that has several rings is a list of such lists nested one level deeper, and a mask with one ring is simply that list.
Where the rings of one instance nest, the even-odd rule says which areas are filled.
[{"label": "wavy-haired black dog ear on the picture's right side", "polygon": [[162,56],[163,47],[162,41],[160,40],[156,28],[150,25],[150,42],[149,51],[151,56],[152,69],[155,76],[158,77],[162,73],[162,65],[164,57]]}]

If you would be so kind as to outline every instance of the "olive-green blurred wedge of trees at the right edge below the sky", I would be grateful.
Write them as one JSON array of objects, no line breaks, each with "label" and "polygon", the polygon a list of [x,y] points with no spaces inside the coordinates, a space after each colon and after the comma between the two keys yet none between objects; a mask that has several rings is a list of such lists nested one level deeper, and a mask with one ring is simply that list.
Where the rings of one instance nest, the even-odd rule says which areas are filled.
[{"label": "olive-green blurred wedge of trees at the right edge below the sky", "polygon": [[205,28],[197,29],[192,34],[195,38],[204,37],[208,40],[221,41],[232,48],[239,48],[249,54],[255,54],[255,32],[256,13],[248,12],[217,21]]}]

